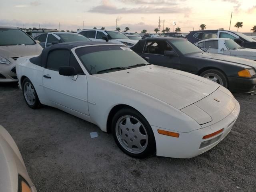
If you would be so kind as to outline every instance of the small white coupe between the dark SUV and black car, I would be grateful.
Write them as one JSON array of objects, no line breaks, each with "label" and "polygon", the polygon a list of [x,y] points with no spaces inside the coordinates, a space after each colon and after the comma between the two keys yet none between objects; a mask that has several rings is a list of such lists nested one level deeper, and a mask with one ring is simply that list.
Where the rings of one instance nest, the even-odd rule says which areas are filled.
[{"label": "small white coupe between the dark SUV and black car", "polygon": [[228,38],[212,38],[195,43],[202,50],[210,53],[256,60],[256,49],[244,48]]}]

